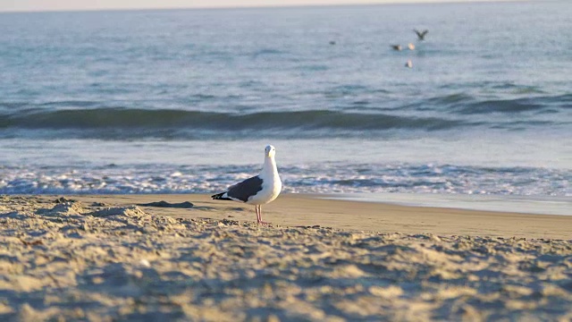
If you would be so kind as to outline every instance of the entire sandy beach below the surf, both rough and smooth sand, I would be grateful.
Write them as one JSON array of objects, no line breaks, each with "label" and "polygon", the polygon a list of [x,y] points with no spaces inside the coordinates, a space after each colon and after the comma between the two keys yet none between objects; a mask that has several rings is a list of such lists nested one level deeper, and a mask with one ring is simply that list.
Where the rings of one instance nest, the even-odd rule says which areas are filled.
[{"label": "entire sandy beach below the surf, both rough and smooth sand", "polygon": [[572,319],[572,216],[65,199],[0,197],[0,320]]}]

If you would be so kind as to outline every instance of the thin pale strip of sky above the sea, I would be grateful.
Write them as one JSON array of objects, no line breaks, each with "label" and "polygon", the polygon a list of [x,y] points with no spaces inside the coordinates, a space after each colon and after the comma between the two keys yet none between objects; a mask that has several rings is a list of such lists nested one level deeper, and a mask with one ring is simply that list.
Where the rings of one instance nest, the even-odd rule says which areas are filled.
[{"label": "thin pale strip of sky above the sea", "polygon": [[0,0],[0,12],[210,8],[322,4],[405,4],[468,1],[469,0]]}]

